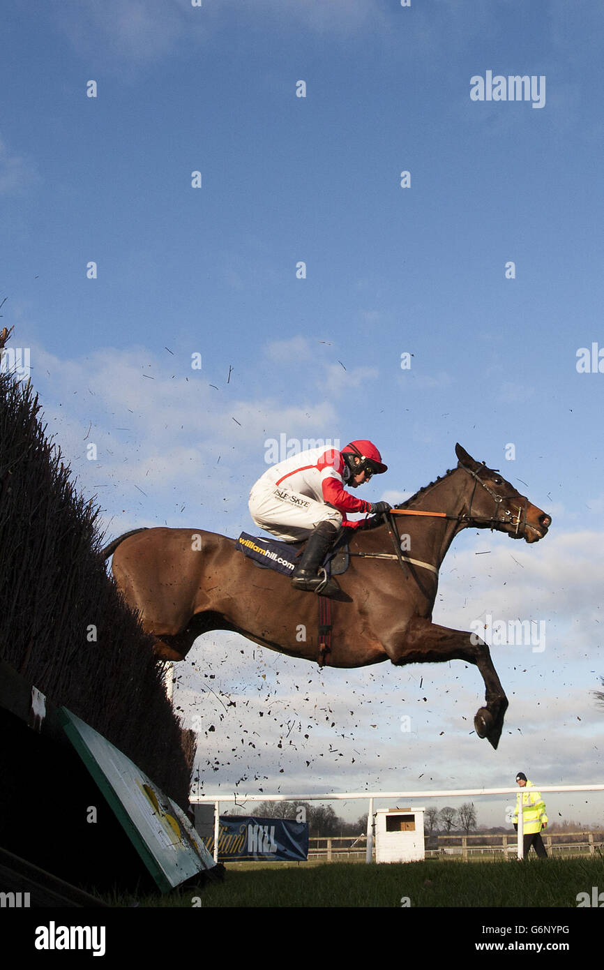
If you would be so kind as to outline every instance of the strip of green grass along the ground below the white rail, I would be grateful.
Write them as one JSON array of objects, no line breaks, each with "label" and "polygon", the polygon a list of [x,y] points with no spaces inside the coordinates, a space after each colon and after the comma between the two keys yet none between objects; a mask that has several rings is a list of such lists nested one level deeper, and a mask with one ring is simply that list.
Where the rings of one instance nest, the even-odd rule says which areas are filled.
[{"label": "strip of green grass along the ground below the white rail", "polygon": [[[204,908],[400,908],[404,896],[411,907],[576,908],[577,893],[590,892],[592,886],[604,888],[601,857],[472,864],[248,863],[229,866],[222,884],[176,890],[139,903],[191,907],[198,897]],[[111,902],[115,905],[116,900]]]}]

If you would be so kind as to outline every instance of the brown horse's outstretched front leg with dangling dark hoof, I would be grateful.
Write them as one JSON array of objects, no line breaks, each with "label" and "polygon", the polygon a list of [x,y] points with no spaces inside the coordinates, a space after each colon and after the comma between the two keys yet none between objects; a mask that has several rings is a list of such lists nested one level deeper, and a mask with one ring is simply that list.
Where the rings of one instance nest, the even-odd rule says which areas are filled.
[{"label": "brown horse's outstretched front leg with dangling dark hoof", "polygon": [[474,663],[485,682],[486,707],[474,718],[479,737],[486,737],[497,747],[508,699],[493,667],[489,647],[475,633],[438,627],[429,620],[414,617],[396,642],[384,643],[393,663],[442,663],[460,660]]}]

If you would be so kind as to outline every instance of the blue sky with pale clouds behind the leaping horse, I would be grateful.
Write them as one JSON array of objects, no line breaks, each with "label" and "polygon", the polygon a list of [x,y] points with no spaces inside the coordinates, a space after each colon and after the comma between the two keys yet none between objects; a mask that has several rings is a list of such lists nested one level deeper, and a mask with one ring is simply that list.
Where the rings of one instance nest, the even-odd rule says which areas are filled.
[{"label": "blue sky with pale clouds behind the leaping horse", "polygon": [[[482,683],[461,663],[320,672],[215,634],[178,682],[187,724],[222,716],[200,733],[206,787],[600,780],[604,373],[576,364],[604,347],[602,9],[79,0],[3,21],[3,323],[108,536],[251,531],[282,434],[373,439],[374,501],[451,468],[459,440],[554,516],[534,547],[462,533],[441,573],[436,622],[547,625],[541,653],[493,648],[511,701],[496,753],[467,734]],[[544,107],[472,101],[487,71],[545,77]],[[558,810],[601,821],[602,803]]]}]

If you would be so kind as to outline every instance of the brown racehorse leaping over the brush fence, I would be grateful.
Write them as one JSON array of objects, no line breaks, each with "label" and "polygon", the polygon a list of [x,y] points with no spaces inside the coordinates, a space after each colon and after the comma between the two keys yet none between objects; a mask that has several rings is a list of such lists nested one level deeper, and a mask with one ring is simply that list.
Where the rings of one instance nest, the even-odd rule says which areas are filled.
[{"label": "brown racehorse leaping over the brush fence", "polygon": [[[346,530],[350,565],[337,577],[340,592],[328,601],[327,654],[328,627],[317,617],[317,604],[326,599],[295,590],[281,573],[258,569],[236,539],[152,528],[125,533],[100,554],[113,556],[117,588],[152,634],[162,660],[184,660],[209,630],[231,630],[309,662],[327,657],[341,668],[461,660],[477,666],[484,680],[486,705],[474,727],[496,749],[508,700],[488,645],[476,633],[432,623],[438,570],[454,537],[468,526],[533,543],[548,533],[552,519],[460,444],[456,454],[456,468],[392,514],[367,520],[370,528]],[[411,555],[403,555],[403,548]]]}]

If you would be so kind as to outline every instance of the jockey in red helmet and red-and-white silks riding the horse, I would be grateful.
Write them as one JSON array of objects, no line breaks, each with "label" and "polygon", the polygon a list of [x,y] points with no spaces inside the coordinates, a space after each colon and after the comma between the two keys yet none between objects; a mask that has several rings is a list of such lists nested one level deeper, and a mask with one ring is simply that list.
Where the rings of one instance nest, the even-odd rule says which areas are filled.
[{"label": "jockey in red helmet and red-and-white silks riding the horse", "polygon": [[356,529],[365,520],[349,522],[346,512],[381,515],[387,501],[356,499],[343,486],[358,488],[387,466],[371,441],[351,441],[341,451],[310,448],[273,465],[258,479],[249,496],[249,511],[257,526],[284,542],[307,538],[300,564],[292,575],[297,590],[334,596],[339,587],[317,570],[342,527]]}]

